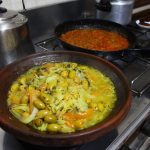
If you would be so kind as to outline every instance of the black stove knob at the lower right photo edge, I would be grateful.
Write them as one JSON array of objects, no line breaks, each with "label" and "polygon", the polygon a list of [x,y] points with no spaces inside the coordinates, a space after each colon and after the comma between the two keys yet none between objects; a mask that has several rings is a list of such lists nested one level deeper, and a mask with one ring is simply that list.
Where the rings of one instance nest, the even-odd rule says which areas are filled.
[{"label": "black stove knob at the lower right photo edge", "polygon": [[150,137],[150,117],[144,122],[141,131],[148,137]]}]

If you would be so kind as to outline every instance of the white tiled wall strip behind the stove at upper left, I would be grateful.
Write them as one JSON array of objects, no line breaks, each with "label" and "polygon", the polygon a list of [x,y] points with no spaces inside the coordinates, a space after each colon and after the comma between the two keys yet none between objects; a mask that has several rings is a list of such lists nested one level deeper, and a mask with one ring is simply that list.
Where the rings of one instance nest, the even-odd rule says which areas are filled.
[{"label": "white tiled wall strip behind the stove at upper left", "polygon": [[[24,4],[25,8],[28,10],[67,1],[75,0],[24,0]],[[22,0],[3,0],[2,7],[5,7],[9,10],[23,10]]]}]

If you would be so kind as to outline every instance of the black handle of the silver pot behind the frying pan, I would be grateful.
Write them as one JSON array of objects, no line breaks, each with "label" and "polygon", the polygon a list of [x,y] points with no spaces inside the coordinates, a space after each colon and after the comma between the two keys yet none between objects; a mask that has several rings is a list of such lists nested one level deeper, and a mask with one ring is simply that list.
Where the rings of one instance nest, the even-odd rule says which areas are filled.
[{"label": "black handle of the silver pot behind the frying pan", "polygon": [[110,12],[111,11],[111,4],[110,4],[110,0],[100,0],[99,3],[96,3],[96,8],[102,11],[107,11]]}]

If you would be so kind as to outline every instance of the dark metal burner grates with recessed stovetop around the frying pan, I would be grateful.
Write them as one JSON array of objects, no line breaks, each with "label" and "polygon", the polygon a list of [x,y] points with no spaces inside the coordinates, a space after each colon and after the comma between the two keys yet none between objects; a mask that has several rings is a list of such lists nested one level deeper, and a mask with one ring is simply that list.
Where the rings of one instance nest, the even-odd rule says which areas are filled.
[{"label": "dark metal burner grates with recessed stovetop around the frying pan", "polygon": [[[150,40],[148,40],[150,39],[150,31],[135,28],[133,25],[129,25],[128,28],[137,37],[136,48],[146,49],[147,53],[145,51],[138,52],[131,50],[131,52],[122,53],[119,56],[98,56],[107,59],[123,70],[131,83],[132,91],[141,96],[150,88],[150,55],[148,52],[148,47],[150,47]],[[40,41],[35,45],[40,47],[42,49],[41,51],[64,50],[55,35],[51,35],[50,38]]]}]

